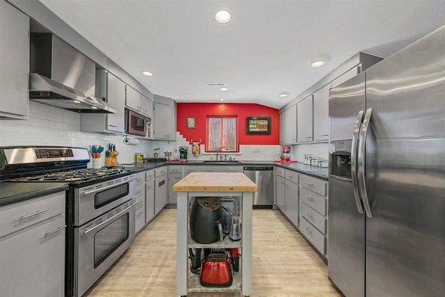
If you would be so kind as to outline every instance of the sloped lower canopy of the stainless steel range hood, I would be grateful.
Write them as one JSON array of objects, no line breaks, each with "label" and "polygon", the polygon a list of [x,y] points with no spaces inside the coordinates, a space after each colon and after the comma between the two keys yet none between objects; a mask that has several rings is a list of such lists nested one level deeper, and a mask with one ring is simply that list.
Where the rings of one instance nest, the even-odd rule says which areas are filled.
[{"label": "sloped lower canopy of the stainless steel range hood", "polygon": [[29,75],[29,99],[79,113],[116,113],[108,102],[84,95],[38,73]]}]

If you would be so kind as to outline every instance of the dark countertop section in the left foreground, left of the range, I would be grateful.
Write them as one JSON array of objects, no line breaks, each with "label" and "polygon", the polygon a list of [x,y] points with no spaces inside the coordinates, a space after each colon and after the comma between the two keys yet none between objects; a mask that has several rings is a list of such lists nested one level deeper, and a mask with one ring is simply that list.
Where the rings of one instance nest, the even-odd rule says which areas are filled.
[{"label": "dark countertop section in the left foreground, left of the range", "polygon": [[0,182],[0,207],[67,189],[64,182]]}]

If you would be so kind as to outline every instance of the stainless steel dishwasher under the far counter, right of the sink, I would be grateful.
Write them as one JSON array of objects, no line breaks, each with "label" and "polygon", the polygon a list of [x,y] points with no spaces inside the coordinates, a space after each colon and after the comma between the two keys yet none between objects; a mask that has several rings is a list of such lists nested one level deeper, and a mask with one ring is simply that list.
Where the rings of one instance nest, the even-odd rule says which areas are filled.
[{"label": "stainless steel dishwasher under the far counter, right of the sink", "polygon": [[253,193],[253,207],[272,208],[273,166],[244,166],[244,174],[258,186],[258,191]]}]

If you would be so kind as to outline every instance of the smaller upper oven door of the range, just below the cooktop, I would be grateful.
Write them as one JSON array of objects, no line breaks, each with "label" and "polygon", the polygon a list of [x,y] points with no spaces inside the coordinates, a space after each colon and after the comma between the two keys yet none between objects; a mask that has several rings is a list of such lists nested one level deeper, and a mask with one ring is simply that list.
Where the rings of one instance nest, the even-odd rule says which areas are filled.
[{"label": "smaller upper oven door of the range, just below the cooktop", "polygon": [[83,225],[133,198],[136,175],[74,189],[74,225]]}]

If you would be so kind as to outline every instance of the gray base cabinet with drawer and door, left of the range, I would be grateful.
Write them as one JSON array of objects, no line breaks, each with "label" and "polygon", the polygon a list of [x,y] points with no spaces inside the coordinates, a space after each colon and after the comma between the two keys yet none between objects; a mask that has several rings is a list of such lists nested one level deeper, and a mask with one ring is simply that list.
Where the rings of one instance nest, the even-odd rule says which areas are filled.
[{"label": "gray base cabinet with drawer and door, left of the range", "polygon": [[65,192],[0,207],[2,297],[64,296]]}]

